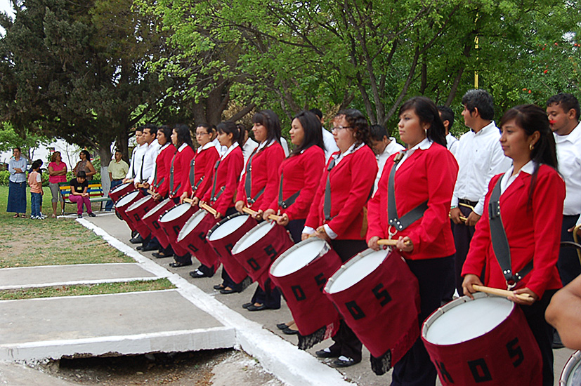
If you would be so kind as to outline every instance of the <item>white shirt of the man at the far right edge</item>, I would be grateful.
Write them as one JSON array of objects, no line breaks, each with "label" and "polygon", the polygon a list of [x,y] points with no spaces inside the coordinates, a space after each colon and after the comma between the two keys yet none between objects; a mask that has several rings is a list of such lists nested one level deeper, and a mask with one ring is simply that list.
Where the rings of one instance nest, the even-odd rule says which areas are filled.
[{"label": "white shirt of the man at the far right edge", "polygon": [[567,195],[563,203],[563,215],[581,213],[581,124],[568,135],[555,136],[559,173],[565,180]]}]

